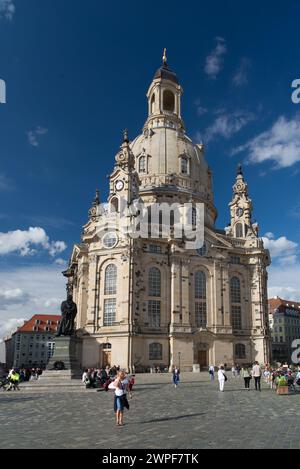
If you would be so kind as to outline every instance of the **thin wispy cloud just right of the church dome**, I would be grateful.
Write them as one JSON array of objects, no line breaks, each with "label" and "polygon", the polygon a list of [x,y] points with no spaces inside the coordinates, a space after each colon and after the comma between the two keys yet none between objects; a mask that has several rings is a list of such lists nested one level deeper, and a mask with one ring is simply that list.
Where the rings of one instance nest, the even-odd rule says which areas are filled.
[{"label": "thin wispy cloud just right of the church dome", "polygon": [[[229,139],[239,132],[249,122],[254,120],[254,114],[248,111],[238,110],[232,113],[225,113],[224,110],[217,112],[218,117],[215,122],[204,132],[204,141],[210,142],[216,137]],[[199,135],[197,136],[199,138]],[[201,137],[201,136],[200,136]]]}]

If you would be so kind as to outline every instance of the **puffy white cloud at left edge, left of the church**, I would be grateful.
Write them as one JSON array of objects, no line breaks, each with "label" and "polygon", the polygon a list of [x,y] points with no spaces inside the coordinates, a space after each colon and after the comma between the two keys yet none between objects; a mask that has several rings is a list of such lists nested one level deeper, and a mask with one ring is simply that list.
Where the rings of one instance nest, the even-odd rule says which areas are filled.
[{"label": "puffy white cloud at left edge, left of the church", "polygon": [[0,232],[0,256],[13,252],[19,252],[21,256],[35,254],[37,251],[33,246],[47,250],[52,257],[67,248],[64,241],[50,241],[45,230],[39,227],[30,227],[27,231]]}]

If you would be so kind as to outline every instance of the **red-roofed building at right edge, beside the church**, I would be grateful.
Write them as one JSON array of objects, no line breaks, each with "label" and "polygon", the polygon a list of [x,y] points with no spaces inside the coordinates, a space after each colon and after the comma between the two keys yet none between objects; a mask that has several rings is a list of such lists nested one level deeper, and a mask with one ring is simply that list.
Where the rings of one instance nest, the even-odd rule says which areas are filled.
[{"label": "red-roofed building at right edge, beside the church", "polygon": [[292,343],[300,339],[300,303],[276,296],[268,300],[268,305],[272,361],[291,363],[295,350]]}]

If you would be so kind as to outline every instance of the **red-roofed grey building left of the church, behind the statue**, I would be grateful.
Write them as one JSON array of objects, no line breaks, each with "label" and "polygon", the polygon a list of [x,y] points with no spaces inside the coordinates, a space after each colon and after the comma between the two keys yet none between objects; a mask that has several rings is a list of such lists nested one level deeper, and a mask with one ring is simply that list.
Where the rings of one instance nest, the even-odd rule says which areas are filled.
[{"label": "red-roofed grey building left of the church, behind the statue", "polygon": [[54,352],[61,316],[35,314],[5,339],[6,366],[45,368]]}]

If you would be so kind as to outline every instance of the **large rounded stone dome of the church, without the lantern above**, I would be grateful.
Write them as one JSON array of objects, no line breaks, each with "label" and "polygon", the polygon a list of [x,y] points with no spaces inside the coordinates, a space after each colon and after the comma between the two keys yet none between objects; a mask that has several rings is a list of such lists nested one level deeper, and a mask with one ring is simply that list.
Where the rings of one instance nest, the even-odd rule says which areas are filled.
[{"label": "large rounded stone dome of the church, without the lantern above", "polygon": [[212,174],[202,144],[194,144],[183,131],[154,126],[144,130],[130,146],[141,195],[173,194],[181,195],[182,200],[204,202],[211,208],[208,224],[214,224]]}]

